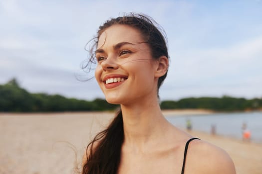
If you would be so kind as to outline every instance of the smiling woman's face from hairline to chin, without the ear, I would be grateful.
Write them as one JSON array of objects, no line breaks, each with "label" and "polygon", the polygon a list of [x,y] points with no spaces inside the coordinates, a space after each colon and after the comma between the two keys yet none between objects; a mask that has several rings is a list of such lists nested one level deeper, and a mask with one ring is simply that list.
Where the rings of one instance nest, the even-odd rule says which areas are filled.
[{"label": "smiling woman's face from hairline to chin, without the ear", "polygon": [[156,60],[139,30],[123,24],[105,29],[96,59],[95,78],[109,103],[131,104],[157,96]]}]

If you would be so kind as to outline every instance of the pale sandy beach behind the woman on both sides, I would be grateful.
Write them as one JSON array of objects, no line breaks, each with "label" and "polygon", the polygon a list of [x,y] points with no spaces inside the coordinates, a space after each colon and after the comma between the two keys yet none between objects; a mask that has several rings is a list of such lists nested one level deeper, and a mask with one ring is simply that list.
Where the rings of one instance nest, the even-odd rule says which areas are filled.
[{"label": "pale sandy beach behind the woman on both sides", "polygon": [[[206,110],[168,110],[165,116],[204,114]],[[113,112],[0,113],[0,174],[73,174],[81,167],[90,138]],[[232,157],[237,174],[261,174],[262,144],[191,131]]]}]

